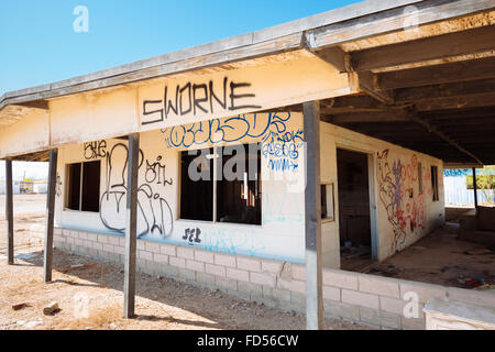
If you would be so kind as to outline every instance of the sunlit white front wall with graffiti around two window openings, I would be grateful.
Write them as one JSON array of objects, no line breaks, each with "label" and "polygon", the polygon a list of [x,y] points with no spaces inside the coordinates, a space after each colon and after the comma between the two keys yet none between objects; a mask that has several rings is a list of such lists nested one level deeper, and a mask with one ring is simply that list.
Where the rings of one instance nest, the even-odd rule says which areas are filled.
[{"label": "sunlit white front wall with graffiti around two window openings", "polygon": [[[304,156],[298,151],[297,144],[302,138],[301,113],[279,114],[250,114],[238,118],[216,120],[210,124],[187,125],[184,129],[166,129],[151,131],[141,134],[141,150],[144,161],[140,168],[140,193],[139,201],[143,212],[139,211],[139,233],[153,224],[153,215],[161,219],[163,206],[165,231],[147,232],[142,238],[164,241],[174,244],[195,245],[200,249],[220,251],[251,256],[264,256],[282,258],[286,261],[301,262],[304,260],[304,186],[287,188],[284,180],[292,179],[304,168],[290,168],[289,170],[271,170],[271,161],[288,161],[302,165]],[[199,131],[198,131],[199,130]],[[205,133],[205,131],[208,131]],[[172,138],[170,138],[172,136]],[[184,139],[183,139],[184,136]],[[262,153],[262,226],[229,224],[189,221],[179,219],[179,152],[190,148],[204,148],[207,145],[224,145],[226,141],[234,141],[232,144],[244,144],[264,141],[265,151],[275,146],[278,138],[287,138],[287,145],[293,145],[293,154],[300,157],[284,157]],[[59,151],[58,175],[61,176],[59,197],[56,202],[56,224],[63,228],[92,230],[97,232],[116,232],[112,229],[123,229],[125,221],[125,197],[120,201],[117,209],[116,196],[124,195],[125,187],[116,186],[127,184],[127,172],[124,169],[127,158],[127,141],[106,140],[106,145],[100,150],[100,156],[92,158],[88,150],[85,156],[82,144],[62,147]],[[79,212],[64,209],[64,197],[66,186],[66,164],[79,163],[87,160],[101,160],[101,204],[100,213]],[[166,167],[166,177],[172,185],[146,182],[153,179],[153,172],[146,175],[146,162],[157,162]],[[107,165],[111,163],[111,169]],[[107,185],[107,182],[109,184]],[[116,186],[112,188],[112,186]],[[108,187],[108,188],[107,188]],[[152,190],[150,200],[145,191]],[[116,194],[122,191],[122,194]],[[108,197],[107,197],[108,196]],[[156,199],[155,199],[156,198]],[[201,201],[201,195],[191,201]],[[145,213],[145,216],[143,216]],[[147,222],[146,222],[146,220]],[[105,220],[105,223],[103,223]],[[156,222],[160,224],[160,221]],[[112,229],[109,229],[112,228]],[[183,240],[186,229],[201,230],[201,243],[189,243]]]}]

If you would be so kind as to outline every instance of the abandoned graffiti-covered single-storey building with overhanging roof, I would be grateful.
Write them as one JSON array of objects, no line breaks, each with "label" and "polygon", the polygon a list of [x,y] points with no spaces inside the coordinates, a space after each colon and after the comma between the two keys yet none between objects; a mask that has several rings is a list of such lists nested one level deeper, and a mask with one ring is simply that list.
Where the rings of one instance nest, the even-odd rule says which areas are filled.
[{"label": "abandoned graffiti-covered single-storey building with overhanging roof", "polygon": [[345,253],[407,249],[444,224],[444,168],[495,164],[494,35],[494,1],[365,1],[6,94],[8,183],[12,161],[50,161],[45,280],[55,246],[124,263],[128,317],[136,267],[307,311],[312,329],[425,328],[408,292],[493,308]]}]

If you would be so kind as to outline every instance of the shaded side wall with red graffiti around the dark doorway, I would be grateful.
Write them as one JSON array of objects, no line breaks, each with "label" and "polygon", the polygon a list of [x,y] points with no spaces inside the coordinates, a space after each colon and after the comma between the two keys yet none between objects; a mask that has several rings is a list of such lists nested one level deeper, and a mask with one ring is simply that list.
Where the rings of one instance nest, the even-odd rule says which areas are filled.
[{"label": "shaded side wall with red graffiti around the dark doorway", "polygon": [[[371,175],[375,185],[371,208],[376,208],[377,260],[406,249],[444,222],[442,161],[321,122],[321,180],[336,185],[336,221],[322,224],[327,267],[340,267],[338,147],[371,155],[375,169],[375,175]],[[422,194],[418,163],[422,168]],[[439,201],[432,200],[431,166],[438,167]]]}]

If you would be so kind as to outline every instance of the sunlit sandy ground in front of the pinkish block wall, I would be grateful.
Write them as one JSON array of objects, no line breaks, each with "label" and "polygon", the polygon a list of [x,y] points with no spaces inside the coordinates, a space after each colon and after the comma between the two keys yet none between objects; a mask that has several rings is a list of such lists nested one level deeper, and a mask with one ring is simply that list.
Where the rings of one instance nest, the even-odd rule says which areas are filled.
[{"label": "sunlit sandy ground in front of the pinkish block wall", "polygon": [[[32,199],[26,199],[25,209],[31,209]],[[23,210],[22,200],[18,208]],[[136,282],[138,317],[123,319],[123,267],[55,250],[53,283],[45,285],[42,239],[31,238],[29,229],[33,224],[43,226],[44,216],[15,217],[16,258],[15,265],[8,266],[6,221],[0,221],[0,330],[305,329],[302,315],[144,274],[139,274]],[[61,310],[54,316],[43,315],[43,308],[52,301]],[[26,307],[13,310],[18,304]],[[369,328],[327,320],[326,329]]]}]

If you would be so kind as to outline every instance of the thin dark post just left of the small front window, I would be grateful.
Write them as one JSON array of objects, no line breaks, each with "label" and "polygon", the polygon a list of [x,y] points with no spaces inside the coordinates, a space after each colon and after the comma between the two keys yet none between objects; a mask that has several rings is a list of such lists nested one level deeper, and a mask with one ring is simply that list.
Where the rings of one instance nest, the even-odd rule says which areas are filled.
[{"label": "thin dark post just left of the small front window", "polygon": [[44,243],[44,271],[43,279],[45,284],[52,282],[53,265],[53,224],[55,219],[55,193],[57,183],[57,161],[58,150],[50,151],[48,165],[48,194],[46,195],[46,224],[45,224],[45,243]]}]

